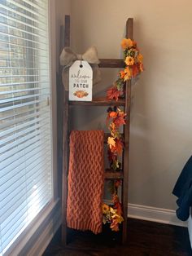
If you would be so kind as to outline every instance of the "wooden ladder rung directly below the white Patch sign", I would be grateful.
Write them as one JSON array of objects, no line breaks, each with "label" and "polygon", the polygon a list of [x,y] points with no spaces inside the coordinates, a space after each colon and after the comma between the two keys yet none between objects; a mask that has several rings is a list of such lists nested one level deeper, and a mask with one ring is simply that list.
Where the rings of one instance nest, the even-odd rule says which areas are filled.
[{"label": "wooden ladder rung directly below the white Patch sign", "polygon": [[69,105],[81,105],[81,106],[125,106],[124,99],[110,100],[106,97],[94,98],[92,101],[69,101]]}]

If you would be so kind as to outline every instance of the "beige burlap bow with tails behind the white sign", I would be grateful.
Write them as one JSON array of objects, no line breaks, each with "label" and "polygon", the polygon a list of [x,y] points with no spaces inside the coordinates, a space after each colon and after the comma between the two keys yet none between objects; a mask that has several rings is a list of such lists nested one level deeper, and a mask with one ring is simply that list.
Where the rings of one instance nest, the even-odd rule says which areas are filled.
[{"label": "beige burlap bow with tails behind the white sign", "polygon": [[89,47],[89,49],[85,51],[83,55],[76,54],[69,47],[64,47],[59,59],[60,64],[64,66],[62,71],[62,82],[65,90],[68,90],[69,68],[76,60],[86,60],[89,62],[93,69],[93,85],[101,81],[101,72],[98,68],[99,60],[96,47]]}]

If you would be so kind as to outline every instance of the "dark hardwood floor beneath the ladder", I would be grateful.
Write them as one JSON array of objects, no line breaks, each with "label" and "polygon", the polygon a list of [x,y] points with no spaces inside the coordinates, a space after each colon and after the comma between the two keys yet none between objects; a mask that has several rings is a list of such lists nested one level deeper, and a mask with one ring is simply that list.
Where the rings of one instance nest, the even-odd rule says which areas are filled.
[{"label": "dark hardwood floor beneath the ladder", "polygon": [[[185,227],[152,223],[134,218],[128,220],[128,242],[120,245],[120,236],[105,228],[95,236],[91,232],[69,231],[69,243],[64,248],[60,230],[43,256],[190,256],[190,240]],[[118,236],[117,236],[118,235]]]}]

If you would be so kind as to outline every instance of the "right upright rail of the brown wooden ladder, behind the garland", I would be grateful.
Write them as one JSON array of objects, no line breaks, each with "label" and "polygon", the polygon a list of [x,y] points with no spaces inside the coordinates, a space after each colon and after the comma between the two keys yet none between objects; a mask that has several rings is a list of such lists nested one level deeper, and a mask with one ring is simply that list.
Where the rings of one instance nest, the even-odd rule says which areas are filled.
[{"label": "right upright rail of the brown wooden ladder, behind the garland", "polygon": [[[133,18],[129,18],[126,24],[126,38],[133,39]],[[130,104],[131,104],[131,81],[127,81],[125,85],[125,108],[124,112],[130,117]],[[127,215],[128,215],[128,188],[129,188],[129,125],[130,122],[127,121],[124,126],[124,156],[123,156],[123,166],[124,166],[124,180],[122,185],[122,203],[123,203],[123,234],[122,243],[127,242]]]}]

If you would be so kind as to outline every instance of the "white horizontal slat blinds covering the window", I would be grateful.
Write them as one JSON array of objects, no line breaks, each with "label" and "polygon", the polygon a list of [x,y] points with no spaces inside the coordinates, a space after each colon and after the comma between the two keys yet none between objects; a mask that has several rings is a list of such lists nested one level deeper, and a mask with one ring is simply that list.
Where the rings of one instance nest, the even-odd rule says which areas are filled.
[{"label": "white horizontal slat blinds covering the window", "polygon": [[47,0],[0,0],[0,255],[51,200]]}]

